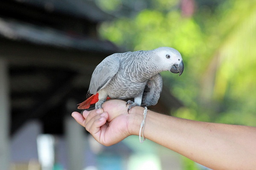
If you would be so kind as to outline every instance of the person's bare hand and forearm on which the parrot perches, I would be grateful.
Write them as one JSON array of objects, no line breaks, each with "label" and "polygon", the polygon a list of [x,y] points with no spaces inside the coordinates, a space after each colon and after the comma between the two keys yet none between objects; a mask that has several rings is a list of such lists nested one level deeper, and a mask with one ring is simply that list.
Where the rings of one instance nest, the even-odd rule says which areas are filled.
[{"label": "person's bare hand and forearm on which the parrot perches", "polygon": [[[83,115],[73,112],[72,116],[96,141],[110,146],[139,135],[143,111],[136,106],[128,113],[126,102],[114,99],[101,109]],[[211,169],[256,167],[256,127],[198,122],[148,110],[144,137]]]}]

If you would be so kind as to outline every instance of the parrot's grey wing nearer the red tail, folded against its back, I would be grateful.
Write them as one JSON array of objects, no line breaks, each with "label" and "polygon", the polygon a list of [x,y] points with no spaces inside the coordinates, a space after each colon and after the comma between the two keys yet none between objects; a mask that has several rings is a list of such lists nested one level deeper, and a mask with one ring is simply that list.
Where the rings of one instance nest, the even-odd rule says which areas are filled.
[{"label": "parrot's grey wing nearer the red tail, folded against its back", "polygon": [[117,55],[118,54],[112,54],[97,65],[90,81],[88,91],[90,94],[96,94],[97,91],[104,88],[117,73],[120,65],[120,60]]}]

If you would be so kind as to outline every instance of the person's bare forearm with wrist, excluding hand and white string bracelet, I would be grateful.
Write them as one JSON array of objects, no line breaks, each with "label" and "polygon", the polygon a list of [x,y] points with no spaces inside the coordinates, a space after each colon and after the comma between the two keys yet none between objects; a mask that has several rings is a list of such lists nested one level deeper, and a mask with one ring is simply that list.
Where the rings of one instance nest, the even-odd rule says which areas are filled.
[{"label": "person's bare forearm with wrist, excluding hand and white string bracelet", "polygon": [[[138,135],[143,108],[133,110]],[[197,122],[148,111],[144,136],[212,169],[256,166],[256,128]],[[241,148],[242,147],[242,148]]]}]

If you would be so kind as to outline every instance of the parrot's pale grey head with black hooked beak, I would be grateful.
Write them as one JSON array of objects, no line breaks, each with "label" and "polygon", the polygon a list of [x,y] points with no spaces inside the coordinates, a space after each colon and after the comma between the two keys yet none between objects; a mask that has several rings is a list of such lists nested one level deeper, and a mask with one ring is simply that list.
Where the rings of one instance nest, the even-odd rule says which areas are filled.
[{"label": "parrot's pale grey head with black hooked beak", "polygon": [[183,73],[184,64],[179,51],[170,47],[160,47],[154,50],[156,54],[157,65],[164,71],[171,71],[172,73]]}]

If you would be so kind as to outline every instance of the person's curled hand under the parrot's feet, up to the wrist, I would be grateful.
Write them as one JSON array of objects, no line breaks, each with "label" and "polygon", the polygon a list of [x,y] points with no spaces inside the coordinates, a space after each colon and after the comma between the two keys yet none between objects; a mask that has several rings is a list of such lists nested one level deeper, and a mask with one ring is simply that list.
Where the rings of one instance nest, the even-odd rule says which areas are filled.
[{"label": "person's curled hand under the parrot's feet, up to the wrist", "polygon": [[131,135],[128,126],[131,114],[128,114],[125,103],[122,100],[108,100],[103,103],[102,109],[84,111],[83,115],[73,112],[72,116],[96,141],[110,146]]}]

